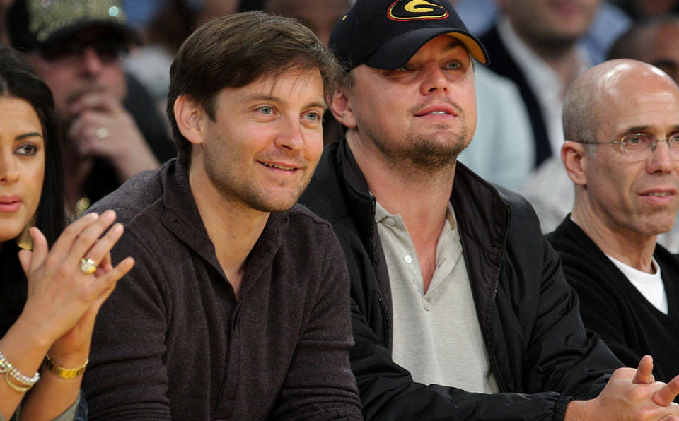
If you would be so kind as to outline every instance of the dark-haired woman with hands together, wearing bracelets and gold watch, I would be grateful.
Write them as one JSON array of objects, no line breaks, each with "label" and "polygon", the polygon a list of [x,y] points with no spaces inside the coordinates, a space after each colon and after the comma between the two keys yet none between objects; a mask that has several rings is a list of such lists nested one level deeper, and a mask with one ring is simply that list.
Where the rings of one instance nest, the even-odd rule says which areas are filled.
[{"label": "dark-haired woman with hands together, wearing bracelets and gold watch", "polygon": [[47,85],[0,45],[0,420],[86,415],[95,316],[134,265],[111,264],[123,231],[112,211],[64,229],[53,107]]}]

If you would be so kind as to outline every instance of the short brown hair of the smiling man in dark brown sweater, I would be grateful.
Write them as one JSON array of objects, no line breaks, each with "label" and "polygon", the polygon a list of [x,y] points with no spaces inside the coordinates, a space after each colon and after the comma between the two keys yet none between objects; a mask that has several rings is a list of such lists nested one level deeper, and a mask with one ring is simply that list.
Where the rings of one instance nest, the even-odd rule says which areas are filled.
[{"label": "short brown hair of the smiling man in dark brown sweater", "polygon": [[216,18],[195,30],[170,67],[167,113],[179,160],[190,165],[191,143],[180,133],[174,115],[180,95],[199,102],[214,121],[215,98],[222,88],[240,88],[298,69],[320,71],[325,97],[340,75],[332,53],[296,20],[253,11]]}]

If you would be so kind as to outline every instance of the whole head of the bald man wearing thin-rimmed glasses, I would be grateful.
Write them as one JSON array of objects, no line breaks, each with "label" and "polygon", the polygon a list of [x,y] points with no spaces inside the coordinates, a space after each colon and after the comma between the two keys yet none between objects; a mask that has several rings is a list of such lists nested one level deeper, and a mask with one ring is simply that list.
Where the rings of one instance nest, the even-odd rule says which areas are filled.
[{"label": "whole head of the bald man wearing thin-rimmed glasses", "polygon": [[[679,210],[679,152],[666,140],[677,133],[679,87],[656,66],[605,61],[571,84],[561,158],[575,184],[572,218],[590,237],[636,247],[671,229]],[[626,136],[651,141],[622,148]]]}]

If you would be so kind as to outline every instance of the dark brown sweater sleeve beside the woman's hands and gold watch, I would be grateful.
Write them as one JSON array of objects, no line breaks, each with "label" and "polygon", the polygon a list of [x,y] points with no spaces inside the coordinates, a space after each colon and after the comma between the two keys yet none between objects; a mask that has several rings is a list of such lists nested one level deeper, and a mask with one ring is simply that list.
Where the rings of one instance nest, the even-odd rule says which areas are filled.
[{"label": "dark brown sweater sleeve beside the woman's hands and gold watch", "polygon": [[126,231],[112,260],[134,256],[97,316],[83,379],[90,420],[170,420],[165,275],[143,242]]}]

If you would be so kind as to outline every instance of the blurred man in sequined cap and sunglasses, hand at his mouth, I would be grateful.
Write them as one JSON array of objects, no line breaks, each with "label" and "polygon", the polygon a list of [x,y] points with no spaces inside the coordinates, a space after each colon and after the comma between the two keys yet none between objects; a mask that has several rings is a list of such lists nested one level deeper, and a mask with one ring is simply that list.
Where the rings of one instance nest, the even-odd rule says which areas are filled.
[{"label": "blurred man in sequined cap and sunglasses, hand at his mouth", "polygon": [[137,42],[120,0],[15,0],[12,47],[50,87],[66,135],[66,202],[79,213],[174,147],[163,119],[122,57]]}]

